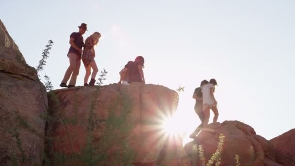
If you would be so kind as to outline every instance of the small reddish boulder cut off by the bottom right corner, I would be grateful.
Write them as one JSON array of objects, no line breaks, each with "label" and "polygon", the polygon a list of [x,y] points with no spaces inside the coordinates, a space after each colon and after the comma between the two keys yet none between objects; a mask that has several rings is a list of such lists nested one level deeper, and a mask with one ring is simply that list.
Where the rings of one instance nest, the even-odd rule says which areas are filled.
[{"label": "small reddish boulder cut off by the bottom right corner", "polygon": [[284,166],[295,166],[295,129],[283,133],[271,140],[277,163]]}]

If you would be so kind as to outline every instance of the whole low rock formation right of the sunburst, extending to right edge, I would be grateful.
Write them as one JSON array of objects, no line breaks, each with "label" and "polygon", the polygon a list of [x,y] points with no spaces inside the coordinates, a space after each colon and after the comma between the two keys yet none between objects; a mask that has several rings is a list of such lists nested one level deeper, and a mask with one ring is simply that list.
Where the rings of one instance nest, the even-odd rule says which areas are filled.
[{"label": "whole low rock formation right of the sunburst, extending to right edge", "polygon": [[[256,134],[252,127],[239,121],[212,123],[208,128],[184,147],[191,163],[196,163],[197,166],[202,164],[199,146],[204,150],[203,156],[207,164],[218,151],[220,134],[225,136],[221,146],[220,166],[236,166],[236,155],[239,156],[241,166],[295,165],[294,129],[268,141]],[[217,160],[214,160],[213,164],[216,162]]]}]

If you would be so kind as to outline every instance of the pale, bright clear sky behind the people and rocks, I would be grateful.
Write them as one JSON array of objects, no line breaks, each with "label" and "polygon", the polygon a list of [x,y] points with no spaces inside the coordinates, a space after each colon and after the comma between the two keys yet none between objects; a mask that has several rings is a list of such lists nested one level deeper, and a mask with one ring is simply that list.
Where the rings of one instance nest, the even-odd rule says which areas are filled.
[{"label": "pale, bright clear sky behind the people and rocks", "polygon": [[[53,40],[40,74],[55,89],[69,66],[69,35],[83,22],[84,39],[102,35],[95,60],[108,71],[104,84],[142,55],[146,83],[184,87],[182,131],[200,123],[192,95],[211,78],[219,122],[239,120],[266,139],[295,128],[295,0],[0,0],[0,19],[30,66]],[[81,65],[77,85],[84,74]]]}]

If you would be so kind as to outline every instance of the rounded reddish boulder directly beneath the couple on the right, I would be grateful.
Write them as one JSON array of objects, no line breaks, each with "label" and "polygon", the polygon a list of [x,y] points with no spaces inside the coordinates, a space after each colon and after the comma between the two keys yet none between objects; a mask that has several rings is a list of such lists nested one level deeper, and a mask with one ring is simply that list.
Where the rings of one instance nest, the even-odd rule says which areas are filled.
[{"label": "rounded reddish boulder directly beneath the couple on the right", "polygon": [[[212,123],[207,130],[202,130],[194,141],[186,144],[185,149],[192,156],[192,160],[197,160],[192,162],[197,162],[198,165],[201,165],[202,158],[207,164],[211,158],[221,157],[220,166],[235,166],[235,157],[238,155],[242,166],[263,166],[264,152],[254,135],[256,133],[252,127],[239,121]],[[221,143],[219,146],[218,142]],[[199,146],[202,146],[203,153]],[[213,161],[215,162],[216,160]]]}]

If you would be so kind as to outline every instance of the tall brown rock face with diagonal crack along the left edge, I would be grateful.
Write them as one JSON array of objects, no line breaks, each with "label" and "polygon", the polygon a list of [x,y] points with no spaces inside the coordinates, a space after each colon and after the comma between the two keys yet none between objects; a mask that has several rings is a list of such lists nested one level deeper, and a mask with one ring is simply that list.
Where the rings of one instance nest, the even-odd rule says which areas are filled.
[{"label": "tall brown rock face with diagonal crack along the left edge", "polygon": [[41,165],[45,86],[0,20],[0,165]]}]

